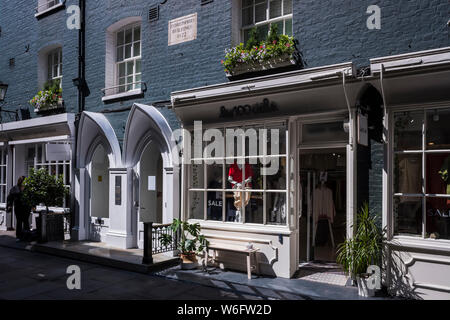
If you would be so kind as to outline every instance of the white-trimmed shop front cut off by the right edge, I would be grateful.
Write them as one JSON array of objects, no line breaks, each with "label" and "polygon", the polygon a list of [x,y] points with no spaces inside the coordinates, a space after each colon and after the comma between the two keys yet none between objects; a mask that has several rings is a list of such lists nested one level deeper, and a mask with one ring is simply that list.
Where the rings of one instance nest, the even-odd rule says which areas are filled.
[{"label": "white-trimmed shop front cut off by the right edge", "polygon": [[393,294],[450,298],[450,48],[371,60],[385,106],[383,229]]}]

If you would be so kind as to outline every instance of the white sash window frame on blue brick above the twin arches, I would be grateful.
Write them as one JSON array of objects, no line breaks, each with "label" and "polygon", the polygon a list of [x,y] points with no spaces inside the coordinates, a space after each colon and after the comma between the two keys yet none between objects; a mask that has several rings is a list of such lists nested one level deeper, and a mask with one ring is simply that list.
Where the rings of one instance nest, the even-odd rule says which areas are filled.
[{"label": "white sash window frame on blue brick above the twin arches", "polygon": [[[139,40],[135,40],[134,39],[134,30],[136,27],[139,27],[140,29],[140,37]],[[119,49],[119,45],[117,43],[117,35],[120,32],[126,32],[127,30],[131,29],[131,56],[130,58],[125,58],[125,48],[126,48],[126,44],[125,43],[125,39],[124,39],[124,43],[120,45],[120,47],[122,48],[122,54],[123,54],[123,60],[121,61],[117,61],[117,51]],[[125,37],[125,34],[124,34]],[[139,47],[140,47],[140,52],[138,56],[134,56],[134,45],[136,43],[139,43]],[[136,64],[137,61],[140,61],[141,63],[141,71],[140,72],[136,72]],[[133,62],[133,73],[131,75],[127,75],[127,64],[129,62]],[[119,74],[119,67],[121,64],[125,65],[125,76],[120,77]],[[133,77],[133,82],[130,84],[127,82],[127,78],[132,76]],[[136,81],[136,77],[140,77],[140,80]],[[121,79],[125,79],[125,84],[121,85],[120,84],[120,80]],[[131,88],[129,88],[127,90],[127,87],[131,85]],[[140,90],[142,88],[142,26],[141,23],[132,23],[132,24],[128,24],[122,28],[120,28],[119,30],[117,30],[116,32],[114,32],[114,87],[116,88],[115,93],[120,94],[120,93],[126,93],[126,92],[130,92],[130,91],[134,91],[134,90]],[[123,91],[121,91],[121,88],[125,87]]]}]

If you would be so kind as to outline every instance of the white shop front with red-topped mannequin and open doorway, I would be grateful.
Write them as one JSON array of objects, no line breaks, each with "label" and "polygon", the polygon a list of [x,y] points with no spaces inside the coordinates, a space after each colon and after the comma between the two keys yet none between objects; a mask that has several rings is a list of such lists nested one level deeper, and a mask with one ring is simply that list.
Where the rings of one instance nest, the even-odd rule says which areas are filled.
[{"label": "white shop front with red-topped mannequin and open doorway", "polygon": [[[213,242],[253,244],[261,273],[335,261],[356,213],[351,63],[172,93],[183,124],[181,216]],[[222,253],[227,268],[245,270]]]}]

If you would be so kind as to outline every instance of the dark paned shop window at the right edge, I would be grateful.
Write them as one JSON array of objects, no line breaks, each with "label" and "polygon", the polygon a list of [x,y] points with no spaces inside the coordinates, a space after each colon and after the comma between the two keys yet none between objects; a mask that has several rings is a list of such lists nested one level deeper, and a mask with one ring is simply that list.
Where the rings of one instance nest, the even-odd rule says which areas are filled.
[{"label": "dark paned shop window at the right edge", "polygon": [[394,233],[450,239],[449,109],[394,114]]}]

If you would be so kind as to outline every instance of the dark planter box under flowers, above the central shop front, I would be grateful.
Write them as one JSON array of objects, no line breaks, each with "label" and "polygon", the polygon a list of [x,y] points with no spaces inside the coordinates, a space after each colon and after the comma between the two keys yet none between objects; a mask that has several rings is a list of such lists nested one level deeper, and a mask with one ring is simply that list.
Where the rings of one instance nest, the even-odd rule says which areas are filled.
[{"label": "dark planter box under flowers, above the central shop front", "polygon": [[242,63],[237,65],[231,73],[226,76],[230,81],[253,78],[271,73],[286,72],[303,68],[300,55],[294,52],[292,55],[284,54],[277,58],[262,63]]}]

